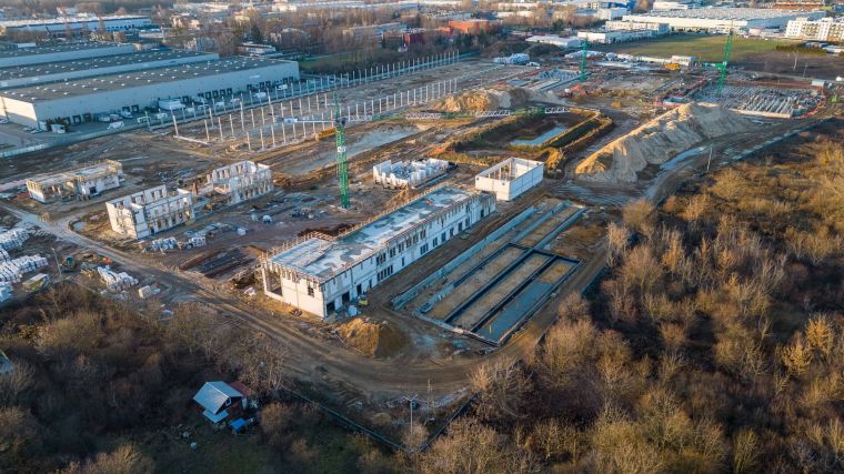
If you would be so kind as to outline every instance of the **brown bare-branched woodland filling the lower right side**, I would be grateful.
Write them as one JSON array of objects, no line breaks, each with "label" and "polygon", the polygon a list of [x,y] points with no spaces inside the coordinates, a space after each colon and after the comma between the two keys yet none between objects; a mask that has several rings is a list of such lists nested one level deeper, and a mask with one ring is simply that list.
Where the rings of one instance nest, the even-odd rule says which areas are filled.
[{"label": "brown bare-branched woodland filling the lower right side", "polygon": [[629,204],[600,289],[526,363],[479,371],[419,470],[842,472],[841,143]]}]

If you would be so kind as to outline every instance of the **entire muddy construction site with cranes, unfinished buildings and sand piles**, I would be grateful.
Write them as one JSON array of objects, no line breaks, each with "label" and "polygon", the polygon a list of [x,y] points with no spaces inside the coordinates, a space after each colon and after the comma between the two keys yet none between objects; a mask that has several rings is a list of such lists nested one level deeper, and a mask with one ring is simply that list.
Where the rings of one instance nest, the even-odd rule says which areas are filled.
[{"label": "entire muddy construction site with cranes, unfinished buildings and sand piles", "polygon": [[434,433],[473,370],[529,354],[600,278],[624,203],[834,115],[834,89],[727,74],[727,57],[443,56],[16,158],[0,239],[63,244],[9,234],[0,259],[56,264],[21,261],[0,291],[26,297],[39,272],[162,317],[198,301],[285,346],[301,393],[392,440],[411,397]]}]

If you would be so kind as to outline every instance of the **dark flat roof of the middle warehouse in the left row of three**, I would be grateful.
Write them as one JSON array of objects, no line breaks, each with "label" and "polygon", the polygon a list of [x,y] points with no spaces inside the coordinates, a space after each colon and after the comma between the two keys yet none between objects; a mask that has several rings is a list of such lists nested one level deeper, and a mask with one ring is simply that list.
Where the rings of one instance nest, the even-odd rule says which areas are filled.
[{"label": "dark flat roof of the middle warehouse in the left row of three", "polygon": [[[143,51],[129,54],[107,56],[99,58],[72,59],[68,61],[48,62],[43,64],[28,64],[11,68],[0,68],[0,82],[11,79],[38,78],[48,74],[61,74],[74,71],[94,71],[100,68],[113,68],[118,65],[138,64],[139,69],[148,69],[145,62],[178,60],[182,58],[209,57],[215,54],[187,50],[160,50]],[[159,65],[160,68],[161,65]],[[91,75],[97,75],[92,73]]]}]

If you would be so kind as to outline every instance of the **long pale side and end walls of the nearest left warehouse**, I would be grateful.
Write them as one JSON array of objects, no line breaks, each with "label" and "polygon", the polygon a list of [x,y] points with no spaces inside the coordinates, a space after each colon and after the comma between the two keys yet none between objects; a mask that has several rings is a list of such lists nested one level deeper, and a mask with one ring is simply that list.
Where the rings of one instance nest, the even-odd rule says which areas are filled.
[{"label": "long pale side and end walls of the nearest left warehouse", "polygon": [[280,61],[262,68],[220,72],[167,83],[151,83],[135,88],[105,90],[61,99],[42,99],[24,102],[0,93],[0,117],[26,127],[38,127],[39,121],[68,119],[78,123],[83,114],[97,115],[128,108],[137,112],[147,107],[157,108],[159,99],[204,95],[205,92],[231,88],[235,93],[247,91],[248,84],[265,81],[299,79],[299,63]]}]

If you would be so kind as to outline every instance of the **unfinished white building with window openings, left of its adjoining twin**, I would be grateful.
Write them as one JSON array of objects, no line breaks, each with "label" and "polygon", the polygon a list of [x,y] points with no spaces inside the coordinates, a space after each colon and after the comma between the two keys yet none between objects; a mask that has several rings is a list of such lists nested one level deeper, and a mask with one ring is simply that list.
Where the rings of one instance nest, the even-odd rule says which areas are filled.
[{"label": "unfinished white building with window openings, left of its adjoining twin", "polygon": [[143,239],[195,219],[193,194],[167,185],[125,195],[105,203],[111,229],[122,235]]}]

